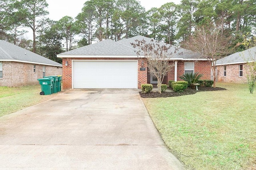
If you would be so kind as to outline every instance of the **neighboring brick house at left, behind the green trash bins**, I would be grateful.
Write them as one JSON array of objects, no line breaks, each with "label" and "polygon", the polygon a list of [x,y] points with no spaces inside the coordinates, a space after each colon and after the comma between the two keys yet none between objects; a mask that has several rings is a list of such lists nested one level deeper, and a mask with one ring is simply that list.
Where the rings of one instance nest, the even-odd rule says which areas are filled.
[{"label": "neighboring brick house at left, behind the green trash bins", "polygon": [[39,84],[38,78],[61,74],[62,64],[0,40],[0,86]]}]

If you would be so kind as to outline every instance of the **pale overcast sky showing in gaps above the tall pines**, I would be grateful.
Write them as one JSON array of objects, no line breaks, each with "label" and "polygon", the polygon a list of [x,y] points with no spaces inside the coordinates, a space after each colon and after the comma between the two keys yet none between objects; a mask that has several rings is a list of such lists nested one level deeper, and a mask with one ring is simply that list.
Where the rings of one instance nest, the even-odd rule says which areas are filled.
[{"label": "pale overcast sky showing in gaps above the tall pines", "polygon": [[[46,0],[48,3],[49,18],[54,21],[60,20],[64,16],[75,18],[82,10],[84,2],[87,0]],[[139,0],[140,4],[146,9],[159,8],[165,3],[174,2],[180,4],[180,0]]]}]

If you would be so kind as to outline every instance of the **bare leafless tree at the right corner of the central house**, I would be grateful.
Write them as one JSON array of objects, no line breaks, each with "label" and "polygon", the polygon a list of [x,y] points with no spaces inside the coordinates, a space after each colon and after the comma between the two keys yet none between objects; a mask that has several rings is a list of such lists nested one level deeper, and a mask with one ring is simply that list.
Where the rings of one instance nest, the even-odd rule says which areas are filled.
[{"label": "bare leafless tree at the right corner of the central house", "polygon": [[214,25],[198,27],[194,35],[184,43],[185,48],[195,51],[212,65],[213,87],[216,87],[216,61],[231,53],[230,37],[221,35],[221,28]]}]

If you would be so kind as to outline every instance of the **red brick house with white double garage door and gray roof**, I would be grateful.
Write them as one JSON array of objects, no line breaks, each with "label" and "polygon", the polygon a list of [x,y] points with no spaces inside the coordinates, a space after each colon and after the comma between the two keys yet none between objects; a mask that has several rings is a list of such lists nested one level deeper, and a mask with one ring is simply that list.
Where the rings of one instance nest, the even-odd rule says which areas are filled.
[{"label": "red brick house with white double garage door and gray roof", "polygon": [[[62,87],[140,88],[141,84],[157,83],[148,72],[146,59],[138,57],[138,49],[130,44],[136,39],[151,41],[140,35],[120,41],[107,39],[57,55],[63,63]],[[164,78],[164,84],[168,84],[168,80],[180,80],[179,76],[185,72],[200,72],[204,74],[202,79],[211,78],[211,65],[206,59],[186,49],[174,51],[172,46],[170,53],[174,55],[170,63],[175,66]]]}]

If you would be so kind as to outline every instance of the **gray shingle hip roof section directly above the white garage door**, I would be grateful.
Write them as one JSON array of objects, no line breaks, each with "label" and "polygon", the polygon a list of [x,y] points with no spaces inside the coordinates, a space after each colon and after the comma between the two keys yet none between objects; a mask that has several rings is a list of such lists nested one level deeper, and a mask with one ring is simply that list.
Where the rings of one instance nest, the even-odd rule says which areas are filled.
[{"label": "gray shingle hip roof section directly above the white garage door", "polygon": [[64,57],[65,55],[111,55],[111,56],[135,56],[137,57],[135,49],[126,47],[125,45],[116,43],[110,39],[100,41],[95,44],[86,45],[84,47],[67,51],[65,53],[58,54],[58,57]]}]

